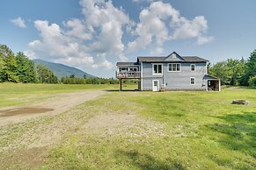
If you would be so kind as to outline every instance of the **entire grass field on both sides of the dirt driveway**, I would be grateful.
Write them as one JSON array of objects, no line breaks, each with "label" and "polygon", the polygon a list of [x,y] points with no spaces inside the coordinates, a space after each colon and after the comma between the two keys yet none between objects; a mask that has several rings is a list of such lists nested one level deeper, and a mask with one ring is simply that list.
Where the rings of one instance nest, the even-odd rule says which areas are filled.
[{"label": "entire grass field on both sides of the dirt driveway", "polygon": [[[4,97],[0,106],[20,104],[10,100],[13,97],[31,96],[28,101],[33,101],[41,94],[82,89],[118,86],[0,84]],[[234,99],[248,100],[250,105],[230,104]],[[0,127],[0,165],[40,169],[255,169],[255,122],[255,89],[109,91],[57,116]],[[50,130],[62,135],[56,140]],[[38,136],[39,131],[44,136]],[[35,146],[41,136],[51,136],[54,142]]]}]

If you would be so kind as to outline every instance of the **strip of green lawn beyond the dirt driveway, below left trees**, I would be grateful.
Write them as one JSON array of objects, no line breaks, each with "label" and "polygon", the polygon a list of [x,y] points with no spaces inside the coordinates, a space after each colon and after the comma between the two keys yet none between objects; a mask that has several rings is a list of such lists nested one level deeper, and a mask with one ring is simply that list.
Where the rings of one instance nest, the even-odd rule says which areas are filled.
[{"label": "strip of green lawn beyond the dirt driveway, below left trees", "polygon": [[0,83],[0,107],[40,102],[55,94],[86,89],[118,89],[118,85]]}]

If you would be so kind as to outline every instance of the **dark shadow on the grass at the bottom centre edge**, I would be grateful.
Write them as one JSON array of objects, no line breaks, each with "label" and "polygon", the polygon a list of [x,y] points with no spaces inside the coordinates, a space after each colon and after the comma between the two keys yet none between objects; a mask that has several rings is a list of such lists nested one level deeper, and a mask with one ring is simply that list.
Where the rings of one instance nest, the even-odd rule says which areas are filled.
[{"label": "dark shadow on the grass at the bottom centre edge", "polygon": [[126,159],[132,165],[140,169],[187,169],[177,160],[167,159],[166,161],[156,159],[150,154],[140,153],[133,151],[121,151],[116,152],[117,157]]}]

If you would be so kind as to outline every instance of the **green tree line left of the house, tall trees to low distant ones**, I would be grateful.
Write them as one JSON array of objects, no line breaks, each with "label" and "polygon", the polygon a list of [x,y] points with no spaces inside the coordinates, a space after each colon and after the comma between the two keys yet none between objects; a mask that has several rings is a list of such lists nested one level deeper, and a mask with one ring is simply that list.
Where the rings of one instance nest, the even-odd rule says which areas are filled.
[{"label": "green tree line left of the house, tall trees to low distant ones", "polygon": [[118,80],[99,77],[77,78],[75,75],[62,77],[61,80],[43,65],[35,66],[24,53],[14,54],[8,46],[0,45],[0,82],[22,83],[63,83],[63,84],[116,84]]}]

